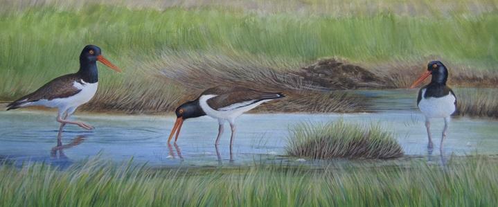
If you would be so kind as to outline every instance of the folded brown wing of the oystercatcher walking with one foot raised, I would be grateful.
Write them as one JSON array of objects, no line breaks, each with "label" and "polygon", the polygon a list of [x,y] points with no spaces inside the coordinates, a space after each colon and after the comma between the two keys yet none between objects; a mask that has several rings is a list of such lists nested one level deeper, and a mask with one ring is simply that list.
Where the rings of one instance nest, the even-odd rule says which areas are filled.
[{"label": "folded brown wing of the oystercatcher walking with one foot raised", "polygon": [[41,99],[52,100],[54,98],[66,98],[73,96],[81,91],[81,89],[73,86],[74,82],[82,83],[81,79],[78,78],[78,75],[75,73],[62,75],[54,80],[51,80],[50,82],[47,82],[35,92],[11,102],[7,107],[9,107],[9,109],[16,109],[19,105],[26,102],[33,102]]}]

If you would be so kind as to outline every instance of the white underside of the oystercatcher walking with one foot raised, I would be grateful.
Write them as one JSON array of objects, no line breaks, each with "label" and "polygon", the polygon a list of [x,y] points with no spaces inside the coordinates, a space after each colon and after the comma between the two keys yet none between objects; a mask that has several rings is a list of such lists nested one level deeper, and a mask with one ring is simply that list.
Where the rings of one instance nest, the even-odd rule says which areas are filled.
[{"label": "white underside of the oystercatcher walking with one foot raised", "polygon": [[80,82],[73,82],[73,86],[75,89],[81,89],[79,93],[76,93],[73,96],[69,96],[66,98],[54,98],[52,100],[41,99],[35,102],[28,102],[22,107],[28,106],[44,106],[50,108],[58,108],[60,113],[64,112],[68,109],[75,110],[80,105],[89,102],[91,98],[94,98],[95,93],[97,92],[98,82],[96,83],[87,83],[83,80]]}]

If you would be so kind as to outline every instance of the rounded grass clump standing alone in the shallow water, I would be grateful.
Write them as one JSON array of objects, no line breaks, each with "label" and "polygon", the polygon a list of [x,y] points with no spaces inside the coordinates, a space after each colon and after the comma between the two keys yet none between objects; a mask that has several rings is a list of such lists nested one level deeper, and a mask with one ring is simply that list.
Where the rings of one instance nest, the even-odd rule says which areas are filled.
[{"label": "rounded grass clump standing alone in the shallow water", "polygon": [[291,129],[287,154],[313,159],[389,159],[403,154],[401,146],[380,125],[346,123],[301,123]]}]

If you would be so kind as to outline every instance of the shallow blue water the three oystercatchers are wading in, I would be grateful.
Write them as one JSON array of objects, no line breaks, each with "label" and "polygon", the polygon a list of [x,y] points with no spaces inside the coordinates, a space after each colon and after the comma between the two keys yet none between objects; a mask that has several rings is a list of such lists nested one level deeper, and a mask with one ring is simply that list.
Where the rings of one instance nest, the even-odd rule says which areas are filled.
[{"label": "shallow blue water the three oystercatchers are wading in", "polygon": [[[307,121],[310,123],[344,119],[352,122],[380,122],[395,132],[405,154],[427,155],[427,134],[424,118],[416,110],[416,91],[356,91],[376,97],[377,113],[359,114],[244,114],[237,120],[234,145],[235,164],[254,161],[294,161],[285,154],[288,129]],[[57,147],[55,112],[1,111],[0,158],[16,161],[46,161],[70,165],[73,161],[100,155],[114,161],[134,161],[150,165],[218,165],[229,163],[230,127],[225,125],[219,149],[214,147],[217,121],[208,118],[187,120],[177,145],[168,145],[172,116],[116,116],[77,113],[73,119],[96,126],[87,132],[66,126]],[[498,154],[498,121],[479,118],[454,118],[444,143],[444,154]],[[435,144],[439,141],[443,120],[432,121]],[[180,152],[180,153],[178,153]]]}]

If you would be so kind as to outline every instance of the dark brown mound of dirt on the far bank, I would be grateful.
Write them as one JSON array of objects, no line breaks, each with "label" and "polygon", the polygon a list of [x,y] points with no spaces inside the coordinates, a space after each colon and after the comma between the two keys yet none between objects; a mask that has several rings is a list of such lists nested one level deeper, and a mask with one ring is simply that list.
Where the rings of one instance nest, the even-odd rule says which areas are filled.
[{"label": "dark brown mound of dirt on the far bank", "polygon": [[388,87],[387,82],[374,73],[335,59],[320,60],[305,66],[296,73],[305,82],[328,89],[380,89]]}]

